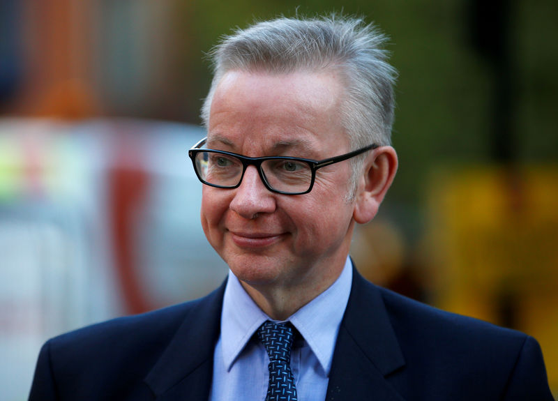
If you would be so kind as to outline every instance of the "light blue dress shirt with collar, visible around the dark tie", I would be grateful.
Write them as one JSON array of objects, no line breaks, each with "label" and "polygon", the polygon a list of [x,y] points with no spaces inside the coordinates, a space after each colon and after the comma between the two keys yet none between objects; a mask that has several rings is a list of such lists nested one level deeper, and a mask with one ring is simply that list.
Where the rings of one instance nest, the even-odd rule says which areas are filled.
[{"label": "light blue dress shirt with collar, visible around the dark tie", "polygon": [[[349,257],[339,278],[326,291],[289,317],[303,339],[293,345],[291,369],[299,401],[324,401],[335,341],[349,294],[352,264]],[[267,316],[229,271],[221,319],[221,333],[213,354],[210,401],[265,400],[269,357],[252,338]]]}]

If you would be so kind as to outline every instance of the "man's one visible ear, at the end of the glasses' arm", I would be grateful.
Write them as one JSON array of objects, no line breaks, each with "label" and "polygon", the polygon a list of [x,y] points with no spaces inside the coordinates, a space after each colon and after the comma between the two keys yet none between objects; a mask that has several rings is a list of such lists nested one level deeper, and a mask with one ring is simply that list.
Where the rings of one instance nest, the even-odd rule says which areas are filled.
[{"label": "man's one visible ear, at the end of the glasses' arm", "polygon": [[380,146],[370,152],[356,188],[353,211],[356,222],[367,223],[378,213],[379,205],[393,182],[397,166],[397,153],[393,147]]}]

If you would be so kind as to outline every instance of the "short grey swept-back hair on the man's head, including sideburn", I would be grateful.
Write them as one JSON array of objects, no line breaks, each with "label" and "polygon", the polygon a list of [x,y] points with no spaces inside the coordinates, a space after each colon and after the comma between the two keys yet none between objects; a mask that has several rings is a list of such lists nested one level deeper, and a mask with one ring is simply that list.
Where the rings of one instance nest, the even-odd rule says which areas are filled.
[{"label": "short grey swept-back hair on the man's head, including sideburn", "polygon": [[[397,73],[387,62],[386,36],[362,19],[331,15],[314,19],[280,17],[237,29],[210,53],[213,82],[202,106],[209,111],[216,86],[232,70],[292,73],[299,70],[335,70],[345,87],[341,125],[353,149],[371,143],[391,144]],[[358,172],[363,158],[355,158]],[[356,179],[356,174],[353,174]]]}]

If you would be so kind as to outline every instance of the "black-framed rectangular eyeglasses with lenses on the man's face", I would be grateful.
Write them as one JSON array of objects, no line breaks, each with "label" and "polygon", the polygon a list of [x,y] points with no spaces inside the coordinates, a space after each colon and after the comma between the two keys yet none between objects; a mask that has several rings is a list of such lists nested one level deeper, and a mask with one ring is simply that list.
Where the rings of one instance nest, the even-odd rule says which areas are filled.
[{"label": "black-framed rectangular eyeglasses with lenses on the man's face", "polygon": [[199,181],[216,188],[238,188],[246,168],[254,165],[266,188],[284,195],[303,195],[310,192],[314,186],[317,169],[378,147],[377,144],[371,144],[324,160],[285,156],[249,158],[232,152],[202,149],[206,140],[207,138],[202,139],[188,151]]}]

